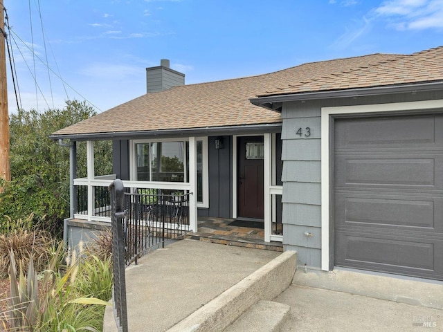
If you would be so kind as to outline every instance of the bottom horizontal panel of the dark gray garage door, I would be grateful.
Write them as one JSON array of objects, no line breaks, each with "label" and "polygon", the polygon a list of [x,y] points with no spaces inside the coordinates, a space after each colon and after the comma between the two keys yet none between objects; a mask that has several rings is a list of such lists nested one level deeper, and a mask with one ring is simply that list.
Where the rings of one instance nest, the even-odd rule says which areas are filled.
[{"label": "bottom horizontal panel of the dark gray garage door", "polygon": [[441,260],[435,260],[436,251],[443,250],[442,241],[418,241],[417,239],[386,239],[337,234],[344,244],[338,253],[337,266],[391,271],[409,275],[426,275],[438,279],[443,273]]}]

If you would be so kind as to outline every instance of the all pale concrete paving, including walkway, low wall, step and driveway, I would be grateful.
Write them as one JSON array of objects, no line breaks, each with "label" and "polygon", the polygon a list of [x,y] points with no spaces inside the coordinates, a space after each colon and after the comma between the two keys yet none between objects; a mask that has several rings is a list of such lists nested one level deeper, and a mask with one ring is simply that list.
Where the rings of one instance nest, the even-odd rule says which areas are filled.
[{"label": "all pale concrete paving, including walkway, low wall, step and driveway", "polygon": [[[294,275],[295,261],[294,252],[195,240],[155,250],[126,272],[129,331],[443,331],[443,282]],[[103,331],[116,331],[110,308]]]}]

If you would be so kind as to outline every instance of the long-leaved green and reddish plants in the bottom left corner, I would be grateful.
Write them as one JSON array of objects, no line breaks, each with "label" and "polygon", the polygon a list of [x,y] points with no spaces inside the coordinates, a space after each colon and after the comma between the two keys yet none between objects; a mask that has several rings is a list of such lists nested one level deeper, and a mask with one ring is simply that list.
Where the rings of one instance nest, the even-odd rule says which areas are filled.
[{"label": "long-leaved green and reddish plants in the bottom left corner", "polygon": [[[109,266],[99,259],[87,260],[89,264],[85,265],[73,255],[71,264],[65,266],[62,273],[57,268],[62,257],[64,246],[60,243],[44,273],[38,275],[35,272],[31,259],[28,274],[25,276],[20,267],[17,280],[15,258],[11,253],[10,311],[0,317],[0,331],[101,331],[107,302],[91,297],[91,293],[104,298],[110,294],[111,286],[106,276],[111,275]],[[87,290],[85,294],[87,282],[97,279],[95,276],[86,279],[85,276],[94,270],[101,271],[96,273],[100,275],[100,281],[90,287],[93,292]],[[103,280],[107,280],[106,284]],[[104,288],[99,289],[99,284]]]}]

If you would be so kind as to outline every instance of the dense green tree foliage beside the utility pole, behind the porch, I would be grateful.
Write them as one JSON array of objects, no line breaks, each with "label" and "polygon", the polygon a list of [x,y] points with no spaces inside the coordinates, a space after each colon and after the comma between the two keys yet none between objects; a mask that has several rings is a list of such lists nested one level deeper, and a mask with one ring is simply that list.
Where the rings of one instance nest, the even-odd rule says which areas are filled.
[{"label": "dense green tree foliage beside the utility pole, behind the porch", "polygon": [[[0,195],[0,225],[8,220],[6,216],[18,220],[33,213],[35,223],[60,233],[63,219],[69,216],[69,147],[48,136],[95,114],[85,102],[74,100],[67,101],[64,109],[19,110],[10,116],[11,181]],[[107,147],[100,150],[111,154],[111,142],[102,144]],[[86,158],[86,153],[78,154]],[[78,165],[86,167],[82,158]],[[109,163],[102,164],[109,168]]]}]

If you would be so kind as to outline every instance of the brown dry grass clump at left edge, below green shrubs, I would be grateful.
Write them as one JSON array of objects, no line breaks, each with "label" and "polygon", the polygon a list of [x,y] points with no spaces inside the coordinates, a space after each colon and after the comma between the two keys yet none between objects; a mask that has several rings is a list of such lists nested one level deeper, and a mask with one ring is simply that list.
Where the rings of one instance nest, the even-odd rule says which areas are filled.
[{"label": "brown dry grass clump at left edge, below green shrubs", "polygon": [[10,268],[10,250],[16,261],[27,270],[31,255],[35,270],[42,271],[51,260],[51,250],[55,241],[44,230],[13,230],[0,235],[0,278],[7,277]]}]

